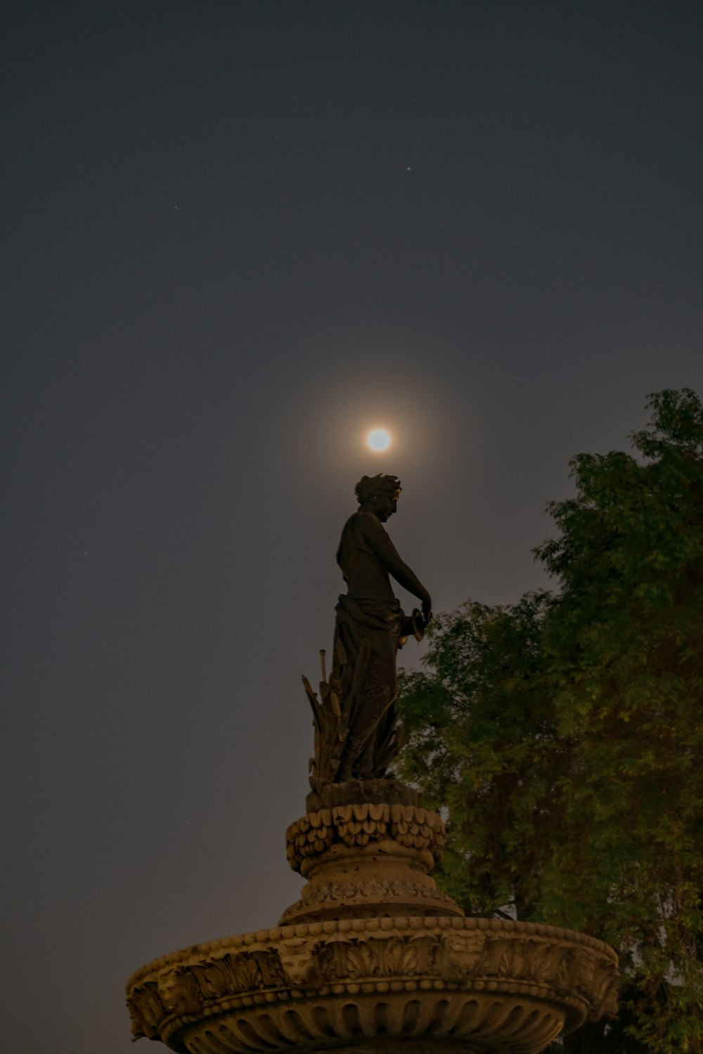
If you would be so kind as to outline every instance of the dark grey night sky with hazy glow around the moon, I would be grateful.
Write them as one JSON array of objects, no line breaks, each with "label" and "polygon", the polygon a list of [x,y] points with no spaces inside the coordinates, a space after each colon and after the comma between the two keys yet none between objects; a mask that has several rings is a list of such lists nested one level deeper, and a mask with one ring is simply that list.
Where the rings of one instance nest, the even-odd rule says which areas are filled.
[{"label": "dark grey night sky with hazy glow around the moon", "polygon": [[297,899],[359,475],[511,603],[569,457],[703,393],[702,21],[5,0],[3,1050],[128,1054],[134,970]]}]

